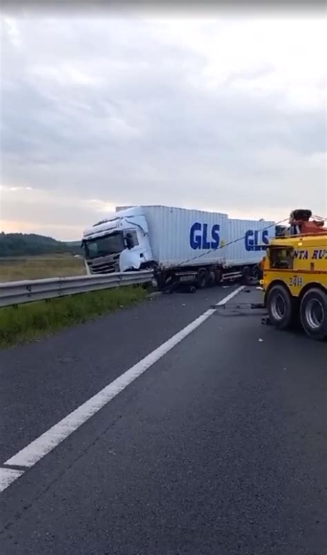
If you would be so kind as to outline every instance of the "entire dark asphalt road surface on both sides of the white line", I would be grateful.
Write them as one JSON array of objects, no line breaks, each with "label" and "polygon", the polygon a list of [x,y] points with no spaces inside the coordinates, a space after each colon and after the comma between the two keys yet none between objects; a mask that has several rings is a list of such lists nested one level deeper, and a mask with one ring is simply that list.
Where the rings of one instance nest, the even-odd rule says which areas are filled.
[{"label": "entire dark asphalt road surface on both sides of the white line", "polygon": [[[231,291],[2,351],[0,463]],[[0,494],[1,555],[326,555],[326,360],[215,311]]]}]

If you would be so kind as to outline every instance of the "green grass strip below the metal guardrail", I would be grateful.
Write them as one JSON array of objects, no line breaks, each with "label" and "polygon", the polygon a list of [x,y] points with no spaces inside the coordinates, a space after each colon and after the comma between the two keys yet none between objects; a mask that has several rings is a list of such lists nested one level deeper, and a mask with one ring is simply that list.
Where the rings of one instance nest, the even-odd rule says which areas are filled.
[{"label": "green grass strip below the metal guardrail", "polygon": [[72,297],[32,302],[0,309],[0,347],[10,347],[50,335],[59,329],[92,320],[124,306],[141,301],[141,286],[90,291]]}]

